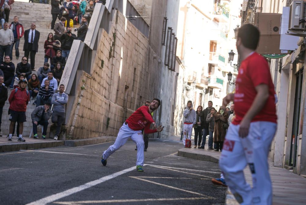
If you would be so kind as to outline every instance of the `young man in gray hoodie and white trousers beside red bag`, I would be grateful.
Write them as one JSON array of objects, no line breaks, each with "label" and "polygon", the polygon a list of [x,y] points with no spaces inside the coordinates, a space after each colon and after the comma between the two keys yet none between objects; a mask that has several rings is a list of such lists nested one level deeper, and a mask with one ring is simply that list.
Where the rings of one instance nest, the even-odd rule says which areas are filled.
[{"label": "young man in gray hoodie and white trousers beside red bag", "polygon": [[183,144],[185,147],[186,137],[188,133],[188,138],[191,140],[192,127],[196,124],[196,111],[192,108],[192,101],[188,100],[187,108],[184,110],[183,115],[185,117],[184,120],[184,138]]}]

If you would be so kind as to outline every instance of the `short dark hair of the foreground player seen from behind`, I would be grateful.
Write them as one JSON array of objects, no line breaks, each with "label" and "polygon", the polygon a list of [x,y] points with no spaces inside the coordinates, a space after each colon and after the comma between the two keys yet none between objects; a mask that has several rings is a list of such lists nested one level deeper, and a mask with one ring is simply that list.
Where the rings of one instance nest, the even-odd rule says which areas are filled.
[{"label": "short dark hair of the foreground player seen from behind", "polygon": [[256,50],[259,42],[259,30],[250,23],[244,24],[238,30],[237,39],[240,38],[245,48]]}]

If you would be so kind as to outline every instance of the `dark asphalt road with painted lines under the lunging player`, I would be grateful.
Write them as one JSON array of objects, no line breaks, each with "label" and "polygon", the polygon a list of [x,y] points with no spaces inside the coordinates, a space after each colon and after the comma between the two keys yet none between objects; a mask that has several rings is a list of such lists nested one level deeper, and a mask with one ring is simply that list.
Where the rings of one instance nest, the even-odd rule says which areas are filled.
[{"label": "dark asphalt road with painted lines under the lunging player", "polygon": [[132,141],[104,167],[111,144],[0,154],[0,204],[224,204],[218,164],[177,156],[178,141],[150,141],[144,172]]}]

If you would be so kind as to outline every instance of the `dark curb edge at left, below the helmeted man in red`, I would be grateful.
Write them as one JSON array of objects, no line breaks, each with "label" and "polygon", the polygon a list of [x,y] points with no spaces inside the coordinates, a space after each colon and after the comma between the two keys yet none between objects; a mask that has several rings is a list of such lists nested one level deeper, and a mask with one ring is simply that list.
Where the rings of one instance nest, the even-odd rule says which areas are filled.
[{"label": "dark curb edge at left, below the helmeted man in red", "polygon": [[41,149],[47,147],[63,146],[64,141],[53,141],[53,142],[27,142],[27,143],[9,143],[0,146],[0,152],[14,152],[19,150],[27,149]]}]

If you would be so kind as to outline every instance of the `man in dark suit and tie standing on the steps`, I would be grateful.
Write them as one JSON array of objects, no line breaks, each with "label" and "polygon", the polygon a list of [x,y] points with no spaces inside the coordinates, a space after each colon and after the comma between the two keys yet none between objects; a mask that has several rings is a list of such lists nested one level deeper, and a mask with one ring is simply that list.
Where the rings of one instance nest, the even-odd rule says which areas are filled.
[{"label": "man in dark suit and tie standing on the steps", "polygon": [[38,52],[38,41],[40,36],[39,31],[35,28],[36,24],[31,23],[31,28],[24,31],[24,56],[28,58],[30,54],[32,70],[35,70],[35,55],[36,52]]}]

